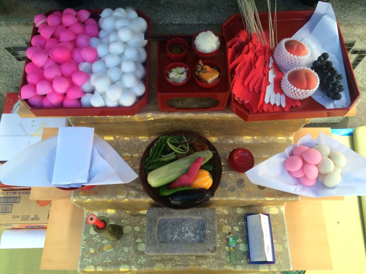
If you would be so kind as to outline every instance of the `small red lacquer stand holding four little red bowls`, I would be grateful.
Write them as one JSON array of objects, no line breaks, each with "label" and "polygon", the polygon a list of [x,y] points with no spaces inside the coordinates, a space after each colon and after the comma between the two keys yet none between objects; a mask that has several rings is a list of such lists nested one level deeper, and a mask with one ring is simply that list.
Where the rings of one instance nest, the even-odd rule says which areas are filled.
[{"label": "small red lacquer stand holding four little red bowls", "polygon": [[[159,41],[157,43],[157,102],[160,111],[215,111],[224,110],[231,92],[230,76],[227,61],[227,45],[226,37],[224,35],[218,35],[221,40],[221,46],[217,54],[212,58],[202,59],[195,55],[192,49],[192,43],[188,43],[188,52],[186,58],[182,63],[185,63],[191,69],[191,78],[188,82],[180,87],[174,87],[170,85],[164,75],[165,68],[174,61],[168,58],[166,51],[165,41]],[[193,35],[180,35],[176,37],[193,37]],[[194,80],[194,68],[198,64],[199,60],[216,62],[221,68],[221,80],[217,86],[209,89],[201,88]],[[168,100],[174,98],[197,98],[197,97],[210,97],[217,100],[217,104],[211,107],[187,107],[177,108],[168,104]]]}]

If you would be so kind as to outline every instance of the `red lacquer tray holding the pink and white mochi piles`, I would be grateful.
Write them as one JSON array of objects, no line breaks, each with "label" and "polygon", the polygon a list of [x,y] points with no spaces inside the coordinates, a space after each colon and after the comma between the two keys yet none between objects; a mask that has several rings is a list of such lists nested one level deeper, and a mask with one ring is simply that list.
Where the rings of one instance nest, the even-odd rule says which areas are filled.
[{"label": "red lacquer tray holding the pink and white mochi piles", "polygon": [[[92,14],[91,18],[96,19],[97,21],[100,18],[100,14],[103,9],[88,9]],[[63,9],[51,9],[45,13],[45,15],[50,15],[55,11],[63,11]],[[151,34],[151,20],[148,16],[146,16],[143,12],[136,9],[136,12],[139,16],[143,17],[148,23],[148,32],[147,34]],[[32,37],[37,35],[37,29],[35,25],[33,25]],[[32,111],[35,116],[132,116],[136,115],[141,109],[143,109],[149,103],[149,74],[150,74],[150,48],[151,41],[148,41],[146,53],[147,59],[143,64],[146,68],[146,78],[145,78],[145,86],[146,92],[145,94],[132,106],[130,107],[54,107],[54,108],[44,108],[44,107],[32,107],[28,104],[26,99],[20,98],[20,90],[21,88],[27,84],[25,69],[23,71],[22,81],[20,83],[19,88],[19,98],[21,101]],[[25,60],[25,64],[31,62],[28,58]]]}]

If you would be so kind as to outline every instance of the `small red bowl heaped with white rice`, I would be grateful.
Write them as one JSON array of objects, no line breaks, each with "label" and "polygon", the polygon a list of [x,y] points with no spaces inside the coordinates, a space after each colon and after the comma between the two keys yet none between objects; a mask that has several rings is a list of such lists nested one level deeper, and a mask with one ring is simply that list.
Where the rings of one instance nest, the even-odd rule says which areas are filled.
[{"label": "small red bowl heaped with white rice", "polygon": [[220,48],[220,38],[211,31],[200,31],[193,36],[192,47],[197,56],[211,58]]}]

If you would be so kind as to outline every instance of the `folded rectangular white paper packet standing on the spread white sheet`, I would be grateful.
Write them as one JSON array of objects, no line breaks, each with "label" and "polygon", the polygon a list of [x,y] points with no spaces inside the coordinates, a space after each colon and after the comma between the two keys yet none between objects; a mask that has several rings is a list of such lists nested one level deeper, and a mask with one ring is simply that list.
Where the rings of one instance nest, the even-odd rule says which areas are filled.
[{"label": "folded rectangular white paper packet standing on the spread white sheet", "polygon": [[94,128],[58,129],[52,184],[88,183]]}]

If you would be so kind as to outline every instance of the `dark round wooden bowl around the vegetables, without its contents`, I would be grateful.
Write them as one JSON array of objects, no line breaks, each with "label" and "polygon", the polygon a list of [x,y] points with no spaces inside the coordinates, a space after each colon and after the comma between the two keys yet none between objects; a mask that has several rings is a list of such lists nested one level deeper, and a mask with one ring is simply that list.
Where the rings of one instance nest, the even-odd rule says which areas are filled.
[{"label": "dark round wooden bowl around the vegetables, without its contents", "polygon": [[[209,161],[208,161],[208,163],[210,163],[213,166],[213,170],[210,172],[213,182],[212,182],[212,185],[209,188],[209,190],[212,192],[212,194],[215,193],[218,185],[220,184],[221,174],[222,174],[221,158],[220,158],[220,155],[218,154],[218,151],[216,150],[216,148],[212,145],[212,143],[208,139],[206,139],[205,137],[202,137],[200,135],[197,135],[195,133],[192,133],[192,132],[174,131],[174,132],[169,132],[169,133],[163,134],[162,136],[180,136],[180,135],[194,137],[196,139],[199,139],[199,140],[205,142],[209,146],[209,150],[211,150],[212,154],[213,154],[212,158],[209,159]],[[146,158],[149,157],[150,150],[154,147],[155,143],[159,140],[159,138],[160,138],[160,136],[157,137],[154,141],[152,141],[148,145],[148,147],[145,149],[144,153],[142,154],[142,158],[141,158],[140,179],[141,179],[142,186],[144,187],[146,193],[148,193],[150,198],[152,198],[159,205],[161,205],[163,207],[167,207],[167,208],[189,209],[189,208],[193,208],[193,207],[201,205],[201,204],[197,204],[195,206],[188,206],[188,207],[172,205],[169,203],[169,196],[160,196],[160,194],[159,194],[160,187],[152,187],[148,183],[148,175],[146,174],[145,169],[144,169],[145,165],[146,165],[145,160],[146,160]]]}]

